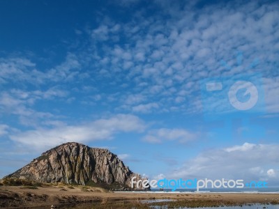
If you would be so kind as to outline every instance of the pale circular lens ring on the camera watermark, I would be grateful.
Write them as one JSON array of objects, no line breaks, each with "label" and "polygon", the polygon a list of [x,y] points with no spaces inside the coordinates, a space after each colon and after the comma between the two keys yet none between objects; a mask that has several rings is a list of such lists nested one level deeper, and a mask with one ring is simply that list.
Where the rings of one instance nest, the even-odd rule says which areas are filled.
[{"label": "pale circular lens ring on the camera watermark", "polygon": [[[240,92],[243,97],[250,96],[249,99],[247,101],[240,101],[238,97]],[[231,88],[229,88],[228,96],[232,107],[239,110],[251,109],[255,106],[255,104],[257,104],[257,100],[259,98],[256,86],[251,82],[246,81],[235,82]]]}]

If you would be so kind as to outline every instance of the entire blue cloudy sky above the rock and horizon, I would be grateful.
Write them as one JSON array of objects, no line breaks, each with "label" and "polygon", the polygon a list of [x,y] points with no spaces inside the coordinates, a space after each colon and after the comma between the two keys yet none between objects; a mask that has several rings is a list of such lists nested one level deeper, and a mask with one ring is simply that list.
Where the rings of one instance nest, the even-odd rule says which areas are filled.
[{"label": "entire blue cloudy sky above the rock and horizon", "polygon": [[278,1],[0,1],[0,178],[68,141],[158,178],[279,185]]}]

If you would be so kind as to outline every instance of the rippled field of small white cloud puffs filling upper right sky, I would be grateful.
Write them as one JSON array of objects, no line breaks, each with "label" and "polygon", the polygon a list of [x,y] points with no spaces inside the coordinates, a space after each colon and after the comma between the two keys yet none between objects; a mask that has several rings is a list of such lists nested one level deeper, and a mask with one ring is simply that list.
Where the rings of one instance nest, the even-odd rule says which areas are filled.
[{"label": "rippled field of small white cloud puffs filling upper right sky", "polygon": [[[263,72],[262,69],[266,69],[263,73],[266,78],[273,74],[277,53],[274,46],[278,45],[279,38],[278,4],[259,6],[255,2],[232,1],[208,4],[196,10],[193,8],[195,3],[187,3],[181,10],[176,3],[156,3],[165,6],[164,12],[171,18],[153,17],[146,20],[144,14],[139,13],[135,16],[138,24],[121,24],[123,33],[118,36],[127,38],[126,45],[119,42],[112,47],[105,41],[101,42],[106,50],[105,54],[100,56],[109,60],[116,59],[114,68],[117,66],[122,69],[123,64],[127,65],[124,54],[133,54],[129,56],[129,60],[131,59],[134,65],[129,65],[128,74],[125,70],[115,74],[119,82],[123,82],[123,79],[135,82],[137,88],[131,89],[132,94],[141,88],[146,100],[158,103],[161,109],[176,111],[172,108],[172,102],[176,102],[180,111],[195,113],[202,110],[200,105],[195,105],[199,100],[197,93],[201,79],[231,77],[244,71]],[[110,24],[112,23],[107,25]],[[139,28],[144,31],[135,34],[131,32]],[[243,52],[242,62],[235,59],[236,50]],[[259,65],[248,68],[254,59],[260,59]],[[222,60],[231,66],[229,70],[220,63]],[[105,66],[100,65],[100,68],[103,67]],[[247,68],[248,70],[244,70]],[[148,85],[140,86],[146,82]],[[190,82],[195,85],[187,86]],[[177,91],[172,94],[173,98],[162,102],[166,87],[174,86]],[[186,92],[185,100],[179,98],[179,93],[183,91]],[[155,101],[153,95],[156,95],[160,102]],[[278,112],[278,101],[274,96],[269,98],[271,102],[268,109]],[[183,106],[185,103],[188,105]],[[222,104],[221,107],[224,105],[226,107],[229,104]]]}]

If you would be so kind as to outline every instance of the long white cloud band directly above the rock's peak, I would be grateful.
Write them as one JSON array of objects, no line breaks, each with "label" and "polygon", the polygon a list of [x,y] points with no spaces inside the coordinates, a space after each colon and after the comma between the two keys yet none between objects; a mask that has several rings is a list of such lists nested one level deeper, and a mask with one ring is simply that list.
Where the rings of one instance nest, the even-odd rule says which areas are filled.
[{"label": "long white cloud band directly above the rock's peak", "polygon": [[144,122],[137,116],[118,114],[83,125],[61,125],[52,129],[38,128],[10,135],[17,143],[34,148],[52,147],[68,141],[88,142],[112,139],[117,132],[142,132]]}]

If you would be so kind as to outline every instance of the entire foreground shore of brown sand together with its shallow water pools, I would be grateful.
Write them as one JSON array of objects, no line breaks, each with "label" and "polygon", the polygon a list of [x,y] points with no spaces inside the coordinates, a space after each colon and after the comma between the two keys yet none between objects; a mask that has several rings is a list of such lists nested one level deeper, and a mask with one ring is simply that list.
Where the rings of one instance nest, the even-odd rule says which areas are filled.
[{"label": "entire foreground shore of brown sand together with its shallow water pools", "polygon": [[0,187],[1,208],[279,208],[279,194],[112,192],[98,187]]}]

